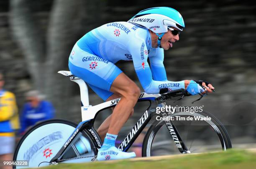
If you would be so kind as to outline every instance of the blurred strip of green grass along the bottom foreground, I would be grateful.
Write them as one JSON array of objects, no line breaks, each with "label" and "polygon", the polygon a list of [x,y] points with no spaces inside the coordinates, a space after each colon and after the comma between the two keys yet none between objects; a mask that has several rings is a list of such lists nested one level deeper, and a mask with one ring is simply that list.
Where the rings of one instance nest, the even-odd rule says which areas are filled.
[{"label": "blurred strip of green grass along the bottom foreground", "polygon": [[189,154],[162,160],[59,164],[44,169],[256,169],[256,154],[230,149],[226,152]]}]

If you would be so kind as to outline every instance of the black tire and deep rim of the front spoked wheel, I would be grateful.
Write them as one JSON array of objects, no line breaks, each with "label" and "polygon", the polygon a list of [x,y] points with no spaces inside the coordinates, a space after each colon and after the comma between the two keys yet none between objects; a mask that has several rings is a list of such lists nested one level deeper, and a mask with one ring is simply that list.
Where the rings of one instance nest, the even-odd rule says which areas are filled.
[{"label": "black tire and deep rim of the front spoked wheel", "polygon": [[[184,114],[184,115],[183,115]],[[175,116],[195,116],[197,114],[200,114],[201,117],[211,117],[211,122],[213,124],[215,124],[215,126],[218,128],[218,131],[220,132],[217,133],[215,130],[217,130],[215,128],[215,132],[218,135],[219,139],[220,139],[220,143],[221,143],[221,147],[223,150],[232,148],[232,144],[230,141],[230,137],[228,136],[228,132],[225,129],[225,127],[223,126],[223,124],[212,114],[210,114],[210,112],[204,111],[204,112],[197,112],[195,113],[190,113],[190,112],[177,112],[174,114],[171,114],[169,116],[175,117]],[[199,116],[199,115],[198,115]],[[153,117],[154,118],[154,117]],[[152,118],[152,119],[153,119]],[[144,137],[143,140],[143,145],[142,145],[142,156],[143,157],[150,157],[152,156],[153,152],[151,152],[152,149],[152,143],[154,141],[154,138],[157,134],[157,132],[159,132],[159,129],[165,124],[165,122],[163,120],[159,121],[159,120],[154,120],[153,123],[151,124],[151,126],[148,128],[148,131]],[[210,126],[210,125],[209,125]],[[212,126],[211,126],[212,127]],[[167,129],[167,127],[166,127]],[[172,139],[172,137],[170,137]],[[172,139],[173,141],[173,139]]]}]

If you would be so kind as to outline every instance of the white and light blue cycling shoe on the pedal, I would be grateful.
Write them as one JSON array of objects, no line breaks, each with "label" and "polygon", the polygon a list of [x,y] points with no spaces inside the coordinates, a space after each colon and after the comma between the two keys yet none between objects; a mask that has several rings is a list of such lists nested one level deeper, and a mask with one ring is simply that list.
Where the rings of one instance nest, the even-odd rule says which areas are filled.
[{"label": "white and light blue cycling shoe on the pedal", "polygon": [[99,149],[97,160],[113,160],[113,159],[129,159],[136,157],[135,152],[127,153],[122,152],[115,146],[109,147],[108,149]]}]

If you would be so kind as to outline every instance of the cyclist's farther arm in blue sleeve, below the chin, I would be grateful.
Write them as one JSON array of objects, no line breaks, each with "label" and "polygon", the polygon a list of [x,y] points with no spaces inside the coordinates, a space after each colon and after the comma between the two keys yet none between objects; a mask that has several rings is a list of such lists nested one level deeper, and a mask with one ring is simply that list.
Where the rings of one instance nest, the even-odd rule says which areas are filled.
[{"label": "cyclist's farther arm in blue sleeve, below the chin", "polygon": [[150,61],[150,69],[153,75],[153,80],[166,81],[166,71],[164,68],[164,49],[155,48],[148,54]]}]

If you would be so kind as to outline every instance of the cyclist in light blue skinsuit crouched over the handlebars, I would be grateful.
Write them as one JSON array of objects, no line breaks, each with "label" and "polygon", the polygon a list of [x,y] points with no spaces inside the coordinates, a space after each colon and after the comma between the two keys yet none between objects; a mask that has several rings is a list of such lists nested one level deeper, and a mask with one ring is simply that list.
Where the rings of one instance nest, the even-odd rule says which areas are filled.
[{"label": "cyclist in light blue skinsuit crouched over the handlebars", "polygon": [[[159,89],[187,89],[190,94],[212,92],[212,85],[193,80],[168,81],[164,69],[164,50],[179,40],[185,27],[182,15],[170,7],[153,7],[138,12],[128,22],[112,22],[88,32],[74,45],[69,56],[69,70],[87,82],[103,100],[121,97],[113,113],[98,129],[104,139],[98,160],[125,159],[135,153],[121,152],[115,139],[123,124],[133,114],[139,87],[116,65],[119,60],[133,61],[139,81],[148,94]],[[150,66],[147,59],[149,58]]]}]

